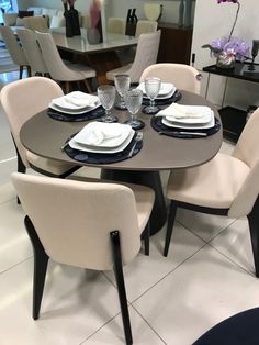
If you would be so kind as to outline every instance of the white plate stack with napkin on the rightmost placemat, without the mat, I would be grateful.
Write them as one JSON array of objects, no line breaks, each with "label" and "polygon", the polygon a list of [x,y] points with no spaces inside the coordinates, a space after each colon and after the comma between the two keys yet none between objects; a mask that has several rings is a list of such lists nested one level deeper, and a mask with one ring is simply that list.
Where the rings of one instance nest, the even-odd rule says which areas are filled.
[{"label": "white plate stack with napkin on the rightmost placemat, without the mat", "polygon": [[214,112],[209,107],[180,105],[172,103],[156,116],[162,116],[162,124],[183,130],[205,130],[215,125]]}]

